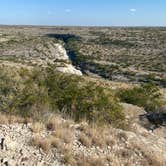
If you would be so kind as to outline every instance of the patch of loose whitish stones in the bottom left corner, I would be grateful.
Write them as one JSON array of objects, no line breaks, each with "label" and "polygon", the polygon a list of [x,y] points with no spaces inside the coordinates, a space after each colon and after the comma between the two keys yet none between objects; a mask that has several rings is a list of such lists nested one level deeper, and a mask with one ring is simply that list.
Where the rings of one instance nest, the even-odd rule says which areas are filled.
[{"label": "patch of loose whitish stones in the bottom left corner", "polygon": [[[1,125],[1,165],[60,165],[56,153],[46,155],[40,149],[30,145],[33,133],[30,124]],[[43,132],[46,136],[48,133]],[[4,145],[2,147],[2,139]]]}]

